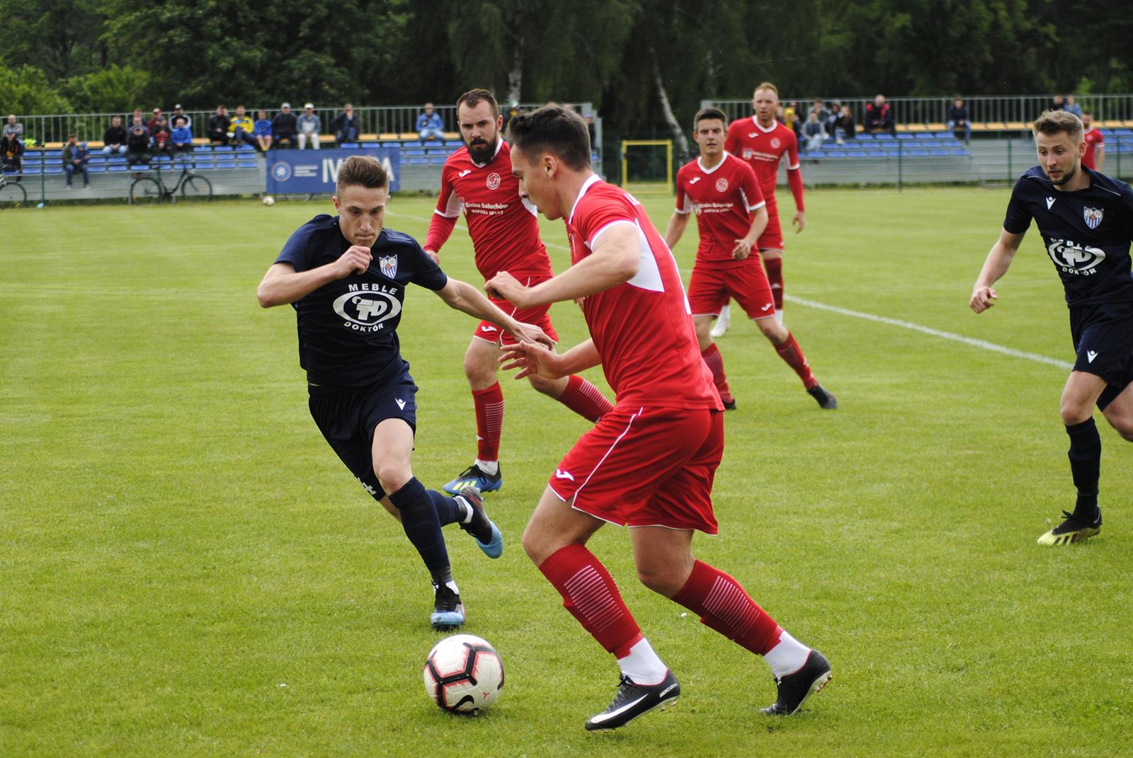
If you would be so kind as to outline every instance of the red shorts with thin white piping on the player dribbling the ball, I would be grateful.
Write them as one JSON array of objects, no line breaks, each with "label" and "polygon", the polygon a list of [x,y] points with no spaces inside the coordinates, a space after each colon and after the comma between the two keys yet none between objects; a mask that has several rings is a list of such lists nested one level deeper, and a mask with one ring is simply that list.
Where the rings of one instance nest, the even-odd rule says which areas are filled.
[{"label": "red shorts with thin white piping on the player dribbling the ball", "polygon": [[574,510],[631,527],[716,534],[712,483],[724,454],[724,414],[614,406],[547,483]]}]

